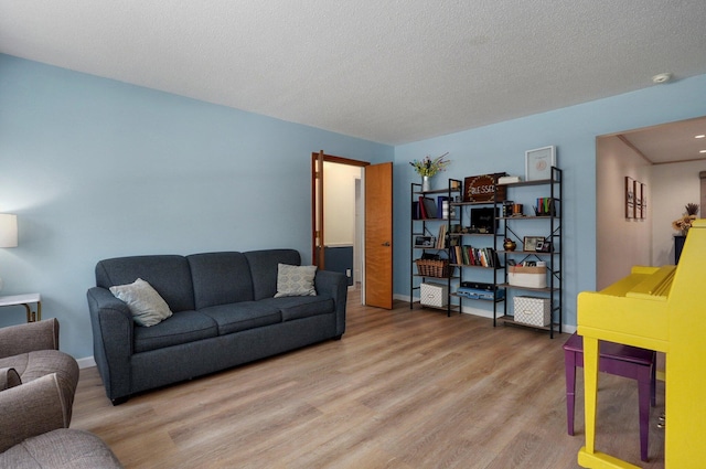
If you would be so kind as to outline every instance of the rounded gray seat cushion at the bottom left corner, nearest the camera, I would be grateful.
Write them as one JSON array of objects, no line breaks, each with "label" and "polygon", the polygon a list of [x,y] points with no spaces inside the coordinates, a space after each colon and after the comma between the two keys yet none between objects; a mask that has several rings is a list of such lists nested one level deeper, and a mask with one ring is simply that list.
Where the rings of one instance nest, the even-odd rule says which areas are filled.
[{"label": "rounded gray seat cushion at the bottom left corner, nearest the camera", "polygon": [[28,438],[0,454],[0,467],[14,469],[122,468],[110,448],[96,435],[60,428]]}]

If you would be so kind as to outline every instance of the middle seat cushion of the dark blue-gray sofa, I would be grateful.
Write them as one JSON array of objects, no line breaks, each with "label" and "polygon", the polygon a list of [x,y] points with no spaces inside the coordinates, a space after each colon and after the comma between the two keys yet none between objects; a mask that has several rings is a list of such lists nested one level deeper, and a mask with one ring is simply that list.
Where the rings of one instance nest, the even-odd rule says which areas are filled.
[{"label": "middle seat cushion of the dark blue-gray sofa", "polygon": [[263,301],[243,301],[214,306],[200,310],[218,324],[218,334],[229,334],[247,329],[282,322],[282,315],[275,306]]}]

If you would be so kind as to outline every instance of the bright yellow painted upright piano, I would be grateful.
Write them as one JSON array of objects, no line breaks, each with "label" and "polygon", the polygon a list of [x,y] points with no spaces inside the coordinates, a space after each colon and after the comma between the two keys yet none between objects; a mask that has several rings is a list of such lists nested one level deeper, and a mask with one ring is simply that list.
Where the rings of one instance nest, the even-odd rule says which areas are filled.
[{"label": "bright yellow painted upright piano", "polygon": [[597,451],[598,341],[664,352],[664,465],[706,468],[706,220],[689,230],[678,266],[633,267],[598,292],[578,296],[578,333],[584,335],[585,468],[637,468]]}]

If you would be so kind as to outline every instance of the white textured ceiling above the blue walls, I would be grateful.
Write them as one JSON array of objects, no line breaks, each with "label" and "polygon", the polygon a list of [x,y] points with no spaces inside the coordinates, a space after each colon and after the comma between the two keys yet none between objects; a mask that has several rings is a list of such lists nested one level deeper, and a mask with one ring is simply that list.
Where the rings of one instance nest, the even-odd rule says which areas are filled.
[{"label": "white textured ceiling above the blue walls", "polygon": [[398,145],[706,74],[705,25],[704,0],[0,0],[0,52]]}]

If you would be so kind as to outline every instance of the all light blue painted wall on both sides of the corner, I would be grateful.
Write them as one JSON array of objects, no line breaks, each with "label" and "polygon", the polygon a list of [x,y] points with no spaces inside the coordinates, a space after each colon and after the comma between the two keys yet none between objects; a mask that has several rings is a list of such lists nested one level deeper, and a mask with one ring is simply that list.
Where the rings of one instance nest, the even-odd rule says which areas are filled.
[{"label": "all light blue painted wall on both sides of the corner", "polygon": [[[98,259],[287,246],[310,260],[309,159],[395,161],[395,286],[409,295],[408,164],[449,151],[441,178],[524,174],[557,146],[565,177],[565,323],[595,288],[596,137],[706,115],[706,75],[396,148],[0,54],[2,295],[40,291],[62,349],[93,355],[85,300]],[[622,177],[622,175],[620,175]],[[0,310],[0,327],[24,320]]]}]

